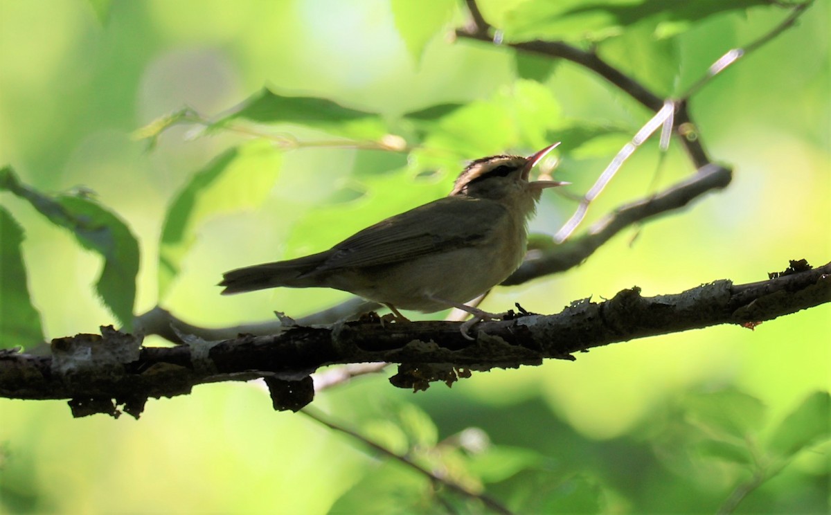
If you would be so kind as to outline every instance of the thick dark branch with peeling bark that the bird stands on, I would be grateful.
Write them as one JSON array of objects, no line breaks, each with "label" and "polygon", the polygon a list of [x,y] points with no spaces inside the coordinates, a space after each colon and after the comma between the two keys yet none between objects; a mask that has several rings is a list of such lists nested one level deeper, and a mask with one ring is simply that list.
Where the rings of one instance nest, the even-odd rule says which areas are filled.
[{"label": "thick dark branch with peeling bark that the bird stands on", "polygon": [[[794,262],[799,265],[799,263]],[[475,326],[475,341],[459,322],[385,322],[376,317],[334,326],[293,326],[272,336],[142,347],[112,328],[102,335],[52,341],[52,356],[0,353],[0,396],[71,399],[75,414],[137,414],[149,397],[188,394],[194,385],[265,377],[275,407],[299,409],[311,400],[309,375],[321,366],[386,361],[401,364],[394,385],[424,389],[470,370],[539,365],[645,336],[718,324],[755,324],[831,301],[831,263],[791,267],[768,281],[722,280],[686,292],[642,297],[640,289],[605,302],[573,302],[556,315],[526,315]],[[278,391],[278,394],[275,394]]]}]

